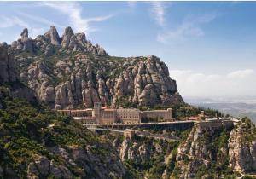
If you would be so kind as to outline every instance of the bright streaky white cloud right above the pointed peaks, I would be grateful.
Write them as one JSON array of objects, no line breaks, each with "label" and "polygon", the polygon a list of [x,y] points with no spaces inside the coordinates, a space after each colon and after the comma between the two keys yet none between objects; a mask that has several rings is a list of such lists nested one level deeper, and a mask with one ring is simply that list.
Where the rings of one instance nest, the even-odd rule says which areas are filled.
[{"label": "bright streaky white cloud right above the pointed peaks", "polygon": [[58,10],[62,14],[67,14],[70,25],[77,32],[92,32],[95,29],[90,27],[90,22],[99,22],[108,20],[113,17],[112,14],[85,19],[82,17],[82,9],[79,3],[76,2],[44,2],[44,6]]}]

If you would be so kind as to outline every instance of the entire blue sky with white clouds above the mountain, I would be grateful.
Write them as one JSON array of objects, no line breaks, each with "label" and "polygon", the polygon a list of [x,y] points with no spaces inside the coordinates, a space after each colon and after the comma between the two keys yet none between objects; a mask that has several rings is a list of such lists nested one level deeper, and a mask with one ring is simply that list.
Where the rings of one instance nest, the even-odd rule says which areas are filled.
[{"label": "entire blue sky with white clouds above the mountain", "polygon": [[0,2],[0,42],[55,26],[108,55],[156,55],[183,96],[256,96],[256,2]]}]

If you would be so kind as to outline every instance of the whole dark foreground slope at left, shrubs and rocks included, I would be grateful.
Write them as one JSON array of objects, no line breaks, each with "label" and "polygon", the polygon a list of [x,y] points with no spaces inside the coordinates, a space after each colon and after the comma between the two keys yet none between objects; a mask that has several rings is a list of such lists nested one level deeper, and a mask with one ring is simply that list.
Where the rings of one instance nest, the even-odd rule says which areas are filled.
[{"label": "whole dark foreground slope at left, shrubs and rocks included", "polygon": [[13,55],[0,45],[0,178],[105,179],[126,173],[110,142],[40,104],[20,83]]}]

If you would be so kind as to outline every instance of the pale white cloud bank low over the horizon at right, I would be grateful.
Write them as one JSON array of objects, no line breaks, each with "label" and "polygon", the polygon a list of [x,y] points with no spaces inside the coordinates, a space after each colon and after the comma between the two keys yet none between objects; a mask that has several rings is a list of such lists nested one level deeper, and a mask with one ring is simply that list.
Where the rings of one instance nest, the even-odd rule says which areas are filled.
[{"label": "pale white cloud bank low over the horizon at right", "polygon": [[256,95],[256,72],[252,69],[206,74],[191,70],[170,70],[184,96]]}]

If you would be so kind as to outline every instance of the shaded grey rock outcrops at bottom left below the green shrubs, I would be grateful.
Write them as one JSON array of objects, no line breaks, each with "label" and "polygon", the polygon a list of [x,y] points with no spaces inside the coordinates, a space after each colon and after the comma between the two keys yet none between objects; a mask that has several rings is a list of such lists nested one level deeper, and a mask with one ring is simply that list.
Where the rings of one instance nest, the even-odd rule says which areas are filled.
[{"label": "shaded grey rock outcrops at bottom left below the green shrubs", "polygon": [[[107,146],[105,145],[105,147]],[[91,152],[90,146],[85,149],[69,147],[68,152],[61,147],[49,147],[49,151],[61,156],[69,164],[79,166],[82,170],[80,177],[105,179],[125,176],[125,167],[119,160],[117,153],[110,146],[108,150],[112,153],[102,157]],[[45,156],[36,156],[35,160],[29,163],[27,167],[27,178],[46,178],[47,176],[74,178],[73,172],[67,166],[56,164],[54,159],[49,160]]]}]

